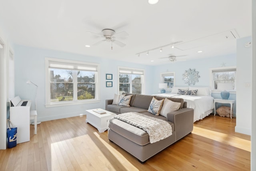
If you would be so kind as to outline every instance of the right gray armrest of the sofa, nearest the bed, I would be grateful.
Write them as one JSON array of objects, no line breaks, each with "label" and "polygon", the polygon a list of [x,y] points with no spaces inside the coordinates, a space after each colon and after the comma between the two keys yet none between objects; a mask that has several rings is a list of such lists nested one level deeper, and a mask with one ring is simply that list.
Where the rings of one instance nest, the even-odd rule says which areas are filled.
[{"label": "right gray armrest of the sofa, nearest the bed", "polygon": [[174,123],[176,141],[193,131],[194,109],[182,108],[167,113],[167,121]]}]

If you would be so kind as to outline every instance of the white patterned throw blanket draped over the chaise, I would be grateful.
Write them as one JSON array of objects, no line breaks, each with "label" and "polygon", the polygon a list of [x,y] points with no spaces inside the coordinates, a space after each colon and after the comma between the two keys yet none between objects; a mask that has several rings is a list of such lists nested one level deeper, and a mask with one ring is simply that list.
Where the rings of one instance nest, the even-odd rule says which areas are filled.
[{"label": "white patterned throw blanket draped over the chaise", "polygon": [[150,117],[137,112],[122,113],[114,116],[114,118],[146,131],[149,135],[150,143],[155,143],[172,135],[172,126],[162,119]]}]

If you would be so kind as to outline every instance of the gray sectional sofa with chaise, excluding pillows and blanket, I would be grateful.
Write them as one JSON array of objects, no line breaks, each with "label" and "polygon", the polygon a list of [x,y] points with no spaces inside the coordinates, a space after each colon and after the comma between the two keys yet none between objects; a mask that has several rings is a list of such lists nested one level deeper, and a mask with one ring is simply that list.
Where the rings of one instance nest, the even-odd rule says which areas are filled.
[{"label": "gray sectional sofa with chaise, excluding pillows and blanket", "polygon": [[130,101],[131,107],[112,105],[113,99],[107,99],[105,109],[116,114],[132,111],[142,113],[144,115],[165,120],[172,126],[171,136],[155,143],[150,143],[146,131],[119,119],[110,119],[108,121],[108,139],[128,151],[136,157],[140,163],[145,163],[147,159],[156,153],[192,132],[194,109],[186,108],[186,102],[184,102],[183,99],[168,98],[172,101],[180,102],[181,106],[180,109],[167,113],[167,117],[164,117],[162,115],[156,116],[148,112],[152,97],[155,97],[158,100],[161,100],[164,97],[132,93],[126,93],[126,95],[132,95]]}]

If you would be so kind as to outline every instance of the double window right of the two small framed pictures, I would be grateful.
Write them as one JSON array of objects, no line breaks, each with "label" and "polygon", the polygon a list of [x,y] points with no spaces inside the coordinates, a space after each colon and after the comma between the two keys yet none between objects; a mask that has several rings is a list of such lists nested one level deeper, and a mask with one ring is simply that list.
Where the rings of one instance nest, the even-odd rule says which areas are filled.
[{"label": "double window right of the two small framed pictures", "polygon": [[119,93],[144,93],[144,70],[137,68],[118,67]]}]

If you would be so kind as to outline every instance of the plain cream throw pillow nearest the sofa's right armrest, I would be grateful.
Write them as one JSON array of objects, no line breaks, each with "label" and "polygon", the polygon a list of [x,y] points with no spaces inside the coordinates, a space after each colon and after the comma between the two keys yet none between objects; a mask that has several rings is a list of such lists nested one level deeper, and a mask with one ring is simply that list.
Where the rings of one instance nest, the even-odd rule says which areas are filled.
[{"label": "plain cream throw pillow nearest the sofa's right armrest", "polygon": [[167,113],[176,111],[178,109],[180,109],[180,103],[165,98],[160,115],[167,117]]}]

